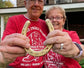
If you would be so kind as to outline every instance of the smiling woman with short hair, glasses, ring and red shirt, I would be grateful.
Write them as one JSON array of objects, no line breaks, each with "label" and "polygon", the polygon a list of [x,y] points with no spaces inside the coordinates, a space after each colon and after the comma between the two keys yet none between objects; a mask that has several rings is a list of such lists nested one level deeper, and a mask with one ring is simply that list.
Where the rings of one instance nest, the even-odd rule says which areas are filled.
[{"label": "smiling woman with short hair, glasses, ring and red shirt", "polygon": [[60,6],[53,6],[46,11],[46,19],[50,19],[55,29],[44,42],[45,45],[53,44],[53,51],[46,55],[49,58],[45,58],[47,64],[55,68],[81,68],[75,59],[83,58],[84,46],[75,31],[64,29],[65,10]]}]

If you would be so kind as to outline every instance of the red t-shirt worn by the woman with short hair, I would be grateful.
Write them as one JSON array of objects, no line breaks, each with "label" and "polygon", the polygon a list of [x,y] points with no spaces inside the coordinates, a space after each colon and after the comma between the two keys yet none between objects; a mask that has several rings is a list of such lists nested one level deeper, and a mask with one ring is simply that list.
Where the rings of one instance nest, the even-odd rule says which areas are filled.
[{"label": "red t-shirt worn by the woman with short hair", "polygon": [[[81,44],[75,31],[63,29],[63,32],[67,32],[73,42]],[[43,60],[45,68],[81,68],[79,63],[73,58],[64,57],[60,54],[54,53],[52,50],[44,56]]]}]

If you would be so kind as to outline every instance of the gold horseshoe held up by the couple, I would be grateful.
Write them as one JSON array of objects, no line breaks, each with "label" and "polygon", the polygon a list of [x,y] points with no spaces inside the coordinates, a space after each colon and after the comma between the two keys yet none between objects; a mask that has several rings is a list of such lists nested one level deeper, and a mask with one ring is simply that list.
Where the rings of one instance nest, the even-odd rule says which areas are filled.
[{"label": "gold horseshoe held up by the couple", "polygon": [[[50,32],[54,30],[54,27],[49,19],[46,19],[46,24],[47,24]],[[26,36],[27,28],[29,25],[30,25],[30,21],[26,21],[26,23],[24,24],[24,27],[22,29],[22,34],[25,36]],[[34,51],[31,48],[29,48],[29,49],[25,48],[25,51],[32,56],[43,56],[43,55],[47,54],[51,48],[52,48],[52,45],[46,45],[46,47],[41,51]]]}]

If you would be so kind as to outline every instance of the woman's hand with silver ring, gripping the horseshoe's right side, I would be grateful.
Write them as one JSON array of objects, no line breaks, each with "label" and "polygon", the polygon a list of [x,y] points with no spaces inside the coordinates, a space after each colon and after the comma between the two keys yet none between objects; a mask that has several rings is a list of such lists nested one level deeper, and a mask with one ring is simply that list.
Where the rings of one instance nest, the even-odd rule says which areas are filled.
[{"label": "woman's hand with silver ring, gripping the horseshoe's right side", "polygon": [[53,45],[52,49],[55,53],[65,57],[74,57],[79,53],[79,49],[72,42],[67,32],[62,32],[60,30],[50,32],[44,42],[44,45],[48,44]]}]

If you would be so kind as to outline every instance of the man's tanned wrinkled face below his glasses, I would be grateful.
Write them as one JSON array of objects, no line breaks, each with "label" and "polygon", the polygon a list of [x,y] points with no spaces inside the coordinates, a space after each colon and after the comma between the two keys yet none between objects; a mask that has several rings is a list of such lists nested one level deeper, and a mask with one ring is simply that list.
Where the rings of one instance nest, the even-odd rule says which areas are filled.
[{"label": "man's tanned wrinkled face below his glasses", "polygon": [[24,1],[24,4],[27,9],[27,14],[25,14],[25,16],[31,20],[38,20],[43,12],[44,0],[42,0],[42,4],[39,4],[38,1],[32,3],[29,0]]}]

